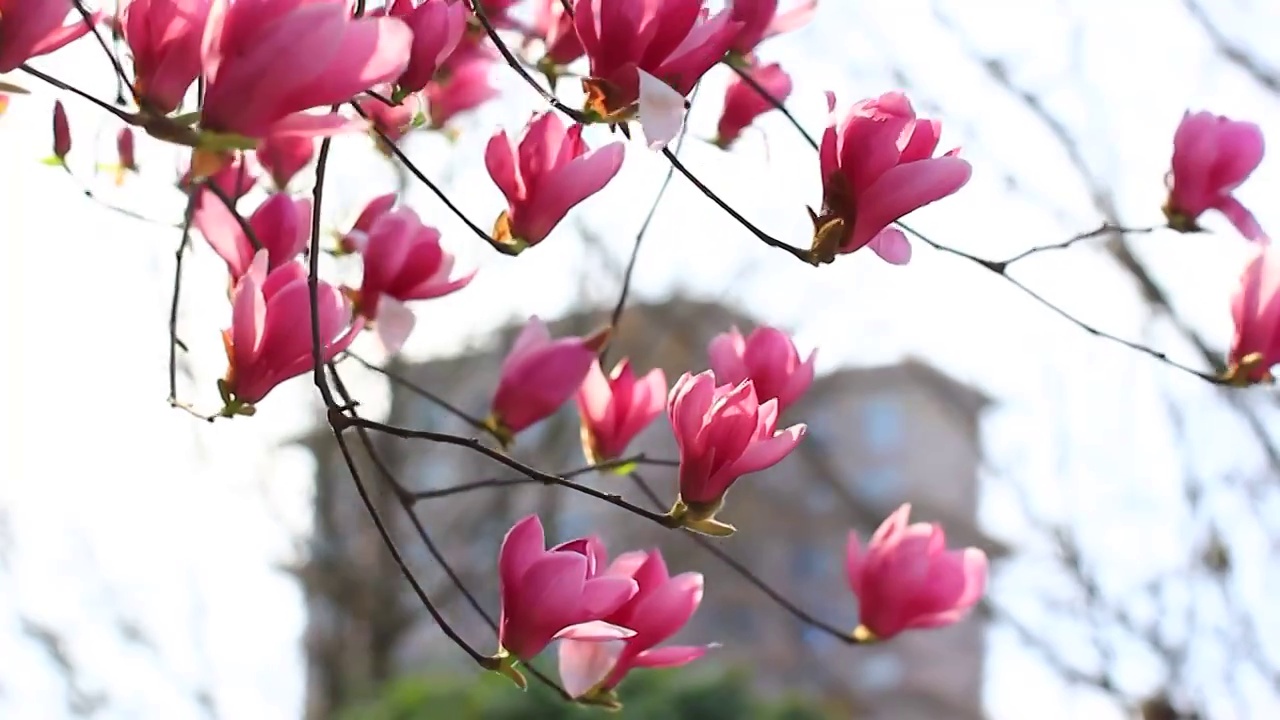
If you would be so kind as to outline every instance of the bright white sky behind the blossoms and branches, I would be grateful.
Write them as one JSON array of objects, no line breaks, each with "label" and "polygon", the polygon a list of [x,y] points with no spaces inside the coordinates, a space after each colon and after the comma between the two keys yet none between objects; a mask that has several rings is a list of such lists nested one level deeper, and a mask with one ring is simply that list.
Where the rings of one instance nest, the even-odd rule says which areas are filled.
[{"label": "bright white sky behind the blossoms and branches", "polygon": [[[951,14],[963,8],[960,24],[973,46],[1007,60],[1016,82],[1043,92],[1050,110],[1087,136],[1083,151],[1120,188],[1125,223],[1161,220],[1170,137],[1185,108],[1252,119],[1280,137],[1277,100],[1211,58],[1175,3],[1065,5],[937,3]],[[847,105],[905,81],[918,109],[946,109],[943,145],[964,146],[974,178],[959,196],[911,218],[934,240],[1004,258],[1097,227],[1100,218],[1061,149],[1034,117],[993,88],[933,8],[923,0],[828,1],[814,26],[771,41],[763,55],[791,72],[796,88],[788,105],[814,135],[824,124],[824,90]],[[1280,8],[1263,8],[1260,0],[1239,0],[1221,9],[1221,22],[1280,67],[1280,50],[1262,41],[1280,29]],[[96,51],[81,42],[36,65],[109,97],[114,85]],[[451,196],[481,227],[500,209],[479,161],[489,128],[518,129],[538,108],[518,78],[499,78],[507,100],[463,122],[456,146],[436,136],[408,145],[430,177],[447,178]],[[0,217],[9,240],[0,287],[12,310],[6,372],[13,380],[5,427],[17,429],[5,433],[0,451],[0,715],[67,716],[60,676],[47,653],[22,634],[20,614],[61,633],[88,693],[108,693],[110,705],[99,717],[206,716],[192,702],[197,692],[214,698],[218,717],[297,716],[305,616],[300,592],[275,566],[294,556],[306,532],[310,465],[271,446],[310,421],[310,386],[291,383],[256,418],[212,427],[166,406],[178,232],[104,210],[63,172],[41,165],[50,147],[51,95],[33,78],[13,79],[37,95],[15,97],[0,118],[6,177]],[[817,159],[783,118],[760,123],[767,146],[759,133],[732,154],[694,141],[712,135],[726,81],[723,69],[705,81],[682,156],[762,228],[806,243],[804,205],[819,200]],[[72,163],[86,178],[95,136],[97,161],[110,161],[116,126],[84,102],[68,100],[67,108],[77,143]],[[609,140],[602,132],[593,128],[591,141]],[[326,211],[337,224],[393,188],[396,176],[365,138],[346,138],[334,152]],[[410,202],[483,269],[470,290],[421,310],[407,354],[453,352],[506,319],[552,316],[584,293],[611,301],[616,281],[600,272],[572,228],[581,222],[596,231],[616,258],[630,249],[666,165],[639,143],[627,152],[613,184],[556,237],[516,260],[481,247],[425,188],[413,187]],[[143,140],[140,161],[143,177],[122,191],[95,187],[175,222],[180,199],[166,187],[175,155]],[[1239,197],[1263,227],[1280,228],[1277,191],[1280,163],[1268,161]],[[1179,309],[1225,347],[1226,297],[1245,246],[1220,218],[1208,225],[1222,232],[1160,232],[1134,245],[1175,290]],[[192,348],[198,382],[180,384],[184,398],[212,410],[212,383],[224,363],[218,337],[227,319],[224,281],[216,258],[196,245],[180,336]],[[1167,333],[1148,332],[1130,283],[1088,250],[1046,254],[1019,277],[1108,332],[1164,342],[1171,355],[1194,364],[1192,351],[1169,342]],[[763,247],[677,178],[636,270],[641,297],[676,290],[745,302],[764,320],[794,329],[801,346],[819,347],[823,369],[911,352],[975,382],[1000,400],[987,424],[993,479],[984,521],[1006,537],[1025,533],[1011,521],[1018,512],[1001,489],[1009,482],[1033,488],[1033,502],[1055,516],[1078,520],[1088,510],[1097,527],[1094,550],[1106,548],[1107,577],[1116,583],[1139,583],[1147,573],[1176,566],[1196,539],[1183,519],[1167,512],[1181,456],[1164,419],[1162,389],[1194,409],[1201,439],[1194,460],[1203,471],[1257,471],[1256,452],[1203,383],[1091,338],[998,278],[923,246],[908,268],[859,254],[815,270]],[[366,405],[385,404],[378,384],[361,388]],[[1275,503],[1267,507],[1274,518]],[[1257,571],[1242,573],[1239,592],[1253,602],[1274,597],[1280,588],[1261,562],[1270,552],[1265,538],[1243,525],[1233,532],[1239,536],[1233,541],[1252,547],[1260,561]],[[150,647],[129,641],[131,625]],[[1260,633],[1275,639],[1280,626]],[[993,717],[1028,717],[1033,710],[1043,720],[1105,717],[1087,698],[1062,693],[1000,634],[991,673]],[[1140,685],[1146,680],[1137,673]],[[1280,712],[1275,705],[1254,710],[1260,717]],[[1222,712],[1234,716],[1230,708]]]}]

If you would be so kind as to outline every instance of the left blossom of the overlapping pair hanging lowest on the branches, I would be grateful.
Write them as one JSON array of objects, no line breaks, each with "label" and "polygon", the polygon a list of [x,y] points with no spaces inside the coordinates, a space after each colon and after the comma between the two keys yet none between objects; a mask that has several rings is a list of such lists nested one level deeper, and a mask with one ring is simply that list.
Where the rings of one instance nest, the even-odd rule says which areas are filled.
[{"label": "left blossom of the overlapping pair hanging lowest on the branches", "polygon": [[499,655],[531,660],[553,639],[620,639],[634,630],[602,621],[639,592],[636,580],[602,574],[604,547],[584,538],[547,550],[536,515],[516,523],[498,552]]}]

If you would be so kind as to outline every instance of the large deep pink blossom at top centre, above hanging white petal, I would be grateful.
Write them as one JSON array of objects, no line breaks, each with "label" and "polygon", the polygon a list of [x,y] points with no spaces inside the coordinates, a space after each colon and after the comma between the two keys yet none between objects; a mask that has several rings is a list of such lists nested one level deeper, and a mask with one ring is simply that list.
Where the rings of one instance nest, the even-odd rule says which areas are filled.
[{"label": "large deep pink blossom at top centre, above hanging white petal", "polygon": [[590,60],[586,109],[620,118],[640,100],[644,70],[682,96],[728,51],[742,28],[703,0],[575,0],[573,24]]}]

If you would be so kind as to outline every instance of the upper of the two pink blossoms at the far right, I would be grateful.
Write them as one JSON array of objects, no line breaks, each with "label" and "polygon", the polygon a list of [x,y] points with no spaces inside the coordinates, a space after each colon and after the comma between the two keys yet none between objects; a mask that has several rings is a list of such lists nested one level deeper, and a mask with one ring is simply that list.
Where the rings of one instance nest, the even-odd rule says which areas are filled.
[{"label": "upper of the two pink blossoms at the far right", "polygon": [[1267,236],[1253,214],[1231,196],[1262,163],[1262,131],[1253,123],[1230,120],[1212,113],[1185,113],[1174,133],[1172,170],[1169,173],[1169,227],[1198,231],[1197,219],[1217,210],[1248,240]]}]

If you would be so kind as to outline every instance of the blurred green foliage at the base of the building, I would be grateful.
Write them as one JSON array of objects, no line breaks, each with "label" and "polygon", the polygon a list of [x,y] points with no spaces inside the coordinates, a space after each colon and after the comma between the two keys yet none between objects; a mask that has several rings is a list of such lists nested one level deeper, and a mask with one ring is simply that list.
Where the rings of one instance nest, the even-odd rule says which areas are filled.
[{"label": "blurred green foliage at the base of the building", "polygon": [[618,688],[622,710],[564,702],[531,682],[520,692],[509,680],[416,676],[390,683],[372,702],[340,720],[828,720],[820,706],[800,698],[764,700],[744,673],[639,671]]}]

